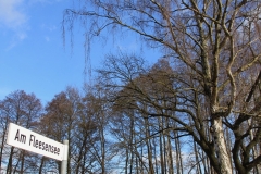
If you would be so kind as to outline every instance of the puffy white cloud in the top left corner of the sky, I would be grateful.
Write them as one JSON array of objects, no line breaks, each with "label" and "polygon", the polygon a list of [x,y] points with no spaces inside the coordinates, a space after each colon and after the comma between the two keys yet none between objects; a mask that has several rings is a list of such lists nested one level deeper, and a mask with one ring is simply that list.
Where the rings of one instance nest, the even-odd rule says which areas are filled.
[{"label": "puffy white cloud in the top left corner of the sky", "polygon": [[28,16],[23,11],[24,0],[0,0],[0,26],[21,29],[26,24]]}]

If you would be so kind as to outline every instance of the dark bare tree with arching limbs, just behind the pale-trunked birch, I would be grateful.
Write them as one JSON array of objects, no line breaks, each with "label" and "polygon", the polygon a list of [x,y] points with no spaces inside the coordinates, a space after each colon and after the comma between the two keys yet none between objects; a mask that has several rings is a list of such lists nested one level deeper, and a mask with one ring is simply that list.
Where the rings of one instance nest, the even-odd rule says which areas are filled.
[{"label": "dark bare tree with arching limbs, just behind the pale-trunked birch", "polygon": [[[197,79],[195,82],[191,71],[185,71],[186,69],[184,69],[184,66],[181,66],[179,70],[176,70],[176,66],[172,66],[169,60],[163,59],[156,66],[150,69],[150,71],[146,71],[146,67],[142,66],[142,63],[138,63],[142,62],[138,58],[125,58],[124,55],[120,55],[117,58],[111,55],[108,58],[104,69],[100,70],[99,73],[101,73],[101,77],[103,78],[103,82],[105,82],[105,86],[111,88],[112,91],[117,92],[112,92],[111,96],[112,101],[113,99],[114,101],[117,101],[115,104],[127,109],[133,108],[141,113],[146,113],[145,115],[148,115],[148,119],[161,116],[173,120],[176,123],[175,127],[164,127],[161,125],[156,134],[172,129],[174,132],[179,132],[178,136],[173,138],[192,138],[192,140],[197,142],[197,145],[208,157],[208,160],[215,172],[222,173],[222,171],[220,171],[220,157],[215,151],[216,145],[214,144],[215,137],[213,136],[213,117],[210,115],[210,109],[208,108],[209,100],[204,98],[204,89],[200,87],[201,84],[197,83]],[[253,67],[256,69],[258,66]],[[183,71],[179,72],[181,70]],[[254,76],[254,74],[251,74],[251,72],[247,73],[248,75]],[[245,77],[238,77],[238,82],[244,82]],[[254,79],[256,80],[252,83],[257,82],[258,77]],[[240,95],[245,92],[245,96],[249,97],[251,90],[243,91],[243,89],[247,88],[244,84],[238,86],[238,88],[239,87],[241,88],[239,90]],[[249,89],[249,87],[247,89]],[[227,89],[223,90],[225,90],[224,92],[227,92]],[[223,103],[224,98],[227,100],[226,96],[220,96],[219,101]],[[244,101],[245,98],[240,99],[241,101],[238,101],[237,104],[244,104],[246,107],[246,102]],[[149,110],[145,110],[140,103],[147,103]],[[232,133],[232,135],[235,137],[234,141],[232,141],[233,138],[231,140],[226,140],[226,138],[229,137],[226,137],[223,134],[222,128],[224,142],[229,141],[229,144],[232,144],[229,146],[227,146],[228,144],[225,144],[225,150],[228,151],[228,162],[231,163],[231,159],[233,158],[233,166],[239,173],[240,171],[237,165],[243,166],[243,173],[247,173],[253,170],[253,167],[259,163],[260,159],[259,157],[253,159],[250,150],[254,145],[259,145],[259,142],[256,141],[257,139],[253,138],[246,140],[245,138],[250,137],[250,130],[253,129],[256,136],[259,137],[259,127],[252,127],[253,125],[247,126],[248,124],[246,121],[254,116],[249,115],[246,117],[246,115],[243,115],[243,111],[237,113],[236,110],[238,110],[238,105],[234,107],[235,109],[231,112],[231,114],[224,117],[222,115],[226,113],[227,107],[220,107],[220,109],[224,109],[225,111],[221,110],[222,112],[220,111],[221,113],[217,113],[221,117],[222,126],[226,126],[229,134]],[[256,110],[256,107],[251,109],[250,112],[252,113],[253,110]],[[258,113],[259,112],[256,114]],[[238,146],[238,141],[240,142],[239,145],[243,149],[235,149]],[[245,151],[244,149],[249,150]],[[238,154],[239,151],[244,151],[245,154]],[[165,153],[163,153],[162,158],[165,159]],[[241,158],[246,161],[238,161],[238,159]],[[196,161],[199,162],[199,159]],[[233,167],[231,167],[231,171],[233,171]]]}]

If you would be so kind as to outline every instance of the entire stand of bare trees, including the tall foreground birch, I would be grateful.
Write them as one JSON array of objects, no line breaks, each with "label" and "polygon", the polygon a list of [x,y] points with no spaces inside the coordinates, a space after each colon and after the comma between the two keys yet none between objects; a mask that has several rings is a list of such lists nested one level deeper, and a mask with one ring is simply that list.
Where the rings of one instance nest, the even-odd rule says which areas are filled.
[{"label": "entire stand of bare trees, including the tall foreground birch", "polygon": [[150,65],[132,52],[104,55],[95,83],[67,87],[46,105],[23,90],[8,95],[2,173],[59,173],[61,165],[8,146],[10,122],[67,139],[69,174],[261,173],[260,0],[74,3],[64,11],[64,40],[73,45],[79,23],[87,52],[94,39],[129,33],[162,57]]}]

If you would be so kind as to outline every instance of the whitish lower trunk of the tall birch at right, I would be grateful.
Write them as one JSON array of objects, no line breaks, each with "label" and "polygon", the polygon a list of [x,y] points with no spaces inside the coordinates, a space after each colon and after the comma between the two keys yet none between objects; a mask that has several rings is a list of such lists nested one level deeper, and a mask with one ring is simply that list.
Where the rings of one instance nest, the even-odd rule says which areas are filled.
[{"label": "whitish lower trunk of the tall birch at right", "polygon": [[232,164],[226,149],[221,117],[213,120],[212,130],[216,156],[220,163],[220,171],[217,172],[220,174],[232,174]]}]

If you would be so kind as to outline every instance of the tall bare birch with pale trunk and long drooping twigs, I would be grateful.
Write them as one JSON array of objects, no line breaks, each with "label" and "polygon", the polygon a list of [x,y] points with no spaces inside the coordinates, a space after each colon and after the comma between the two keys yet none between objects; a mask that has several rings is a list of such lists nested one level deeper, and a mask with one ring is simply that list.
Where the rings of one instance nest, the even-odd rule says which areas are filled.
[{"label": "tall bare birch with pale trunk and long drooping twigs", "polygon": [[[249,94],[254,82],[248,78],[257,78],[257,73],[251,73],[260,69],[260,1],[91,0],[83,3],[90,8],[83,4],[82,9],[66,10],[64,26],[72,26],[73,20],[80,16],[82,21],[89,22],[88,38],[102,35],[104,28],[128,29],[149,46],[164,50],[165,57],[175,62],[174,69],[181,78],[189,79],[189,84],[183,82],[183,92],[189,89],[195,96],[194,104],[199,107],[204,103],[208,112],[203,120],[209,120],[211,128],[211,140],[202,140],[204,136],[200,134],[203,133],[195,135],[195,140],[209,154],[217,173],[232,173],[234,166],[239,173],[247,173],[260,163],[259,157],[252,159],[249,156],[250,149],[257,145],[259,130],[256,130],[257,138],[248,142],[244,140],[250,130],[258,128],[249,126],[239,132],[247,120],[258,117],[260,112],[259,101],[252,103]],[[246,102],[248,96],[249,102]],[[199,110],[176,108],[194,121],[199,120],[196,114]],[[236,139],[229,151],[224,124]],[[200,128],[201,124],[194,126]],[[212,141],[213,146],[208,141]],[[244,159],[239,157],[240,151]]]}]

